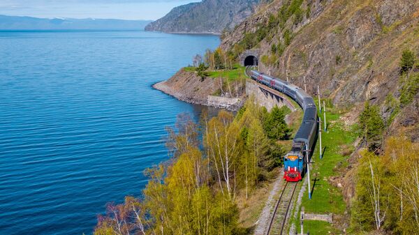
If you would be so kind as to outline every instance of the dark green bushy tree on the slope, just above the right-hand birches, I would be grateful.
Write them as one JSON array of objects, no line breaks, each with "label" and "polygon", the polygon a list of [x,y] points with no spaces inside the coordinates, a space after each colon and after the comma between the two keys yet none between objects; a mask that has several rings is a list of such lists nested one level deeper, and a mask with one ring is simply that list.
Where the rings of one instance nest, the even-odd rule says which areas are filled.
[{"label": "dark green bushy tree on the slope, just above the right-hand birches", "polygon": [[384,131],[384,122],[377,105],[365,103],[364,110],[359,117],[362,137],[370,151],[376,151],[381,144],[381,134]]}]

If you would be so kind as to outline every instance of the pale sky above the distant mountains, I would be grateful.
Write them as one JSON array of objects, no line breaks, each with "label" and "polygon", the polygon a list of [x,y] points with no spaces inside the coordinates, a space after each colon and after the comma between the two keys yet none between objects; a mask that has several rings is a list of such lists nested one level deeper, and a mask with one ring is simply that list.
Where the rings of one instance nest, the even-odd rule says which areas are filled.
[{"label": "pale sky above the distant mountains", "polygon": [[0,15],[157,20],[194,1],[200,0],[0,0]]}]

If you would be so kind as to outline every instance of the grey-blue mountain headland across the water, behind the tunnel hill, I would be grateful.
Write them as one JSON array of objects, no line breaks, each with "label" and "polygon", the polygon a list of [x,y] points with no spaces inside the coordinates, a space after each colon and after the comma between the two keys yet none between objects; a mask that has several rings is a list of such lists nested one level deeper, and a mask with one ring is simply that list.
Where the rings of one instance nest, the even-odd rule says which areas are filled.
[{"label": "grey-blue mountain headland across the water, behind the tunnel hill", "polygon": [[203,0],[173,8],[145,27],[165,33],[221,33],[252,15],[260,0]]}]

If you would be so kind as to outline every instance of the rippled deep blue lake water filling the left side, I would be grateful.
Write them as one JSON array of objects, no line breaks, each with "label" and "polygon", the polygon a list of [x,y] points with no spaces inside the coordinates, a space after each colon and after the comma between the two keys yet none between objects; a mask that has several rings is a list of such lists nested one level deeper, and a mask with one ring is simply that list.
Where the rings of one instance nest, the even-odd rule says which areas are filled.
[{"label": "rippled deep blue lake water filling the left side", "polygon": [[91,234],[168,158],[165,126],[203,107],[152,84],[216,36],[0,31],[0,234]]}]

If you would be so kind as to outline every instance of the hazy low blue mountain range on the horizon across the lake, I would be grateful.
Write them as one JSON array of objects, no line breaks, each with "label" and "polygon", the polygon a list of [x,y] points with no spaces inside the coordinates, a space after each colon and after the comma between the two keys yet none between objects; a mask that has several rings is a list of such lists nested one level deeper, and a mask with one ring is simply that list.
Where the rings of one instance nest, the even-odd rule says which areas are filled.
[{"label": "hazy low blue mountain range on the horizon across the lake", "polygon": [[144,29],[151,20],[36,18],[0,15],[0,30]]}]

